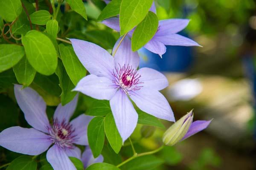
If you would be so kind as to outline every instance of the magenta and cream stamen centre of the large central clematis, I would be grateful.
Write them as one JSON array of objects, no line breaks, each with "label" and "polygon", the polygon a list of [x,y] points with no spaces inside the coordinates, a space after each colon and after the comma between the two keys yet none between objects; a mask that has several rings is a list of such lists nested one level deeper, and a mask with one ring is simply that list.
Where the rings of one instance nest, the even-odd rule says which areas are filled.
[{"label": "magenta and cream stamen centre of the large central clematis", "polygon": [[126,94],[129,94],[129,91],[140,90],[143,86],[143,82],[140,82],[140,74],[137,73],[137,70],[132,68],[130,65],[119,65],[119,67],[113,70],[113,76],[115,79],[113,82],[117,85],[117,88],[121,88]]}]

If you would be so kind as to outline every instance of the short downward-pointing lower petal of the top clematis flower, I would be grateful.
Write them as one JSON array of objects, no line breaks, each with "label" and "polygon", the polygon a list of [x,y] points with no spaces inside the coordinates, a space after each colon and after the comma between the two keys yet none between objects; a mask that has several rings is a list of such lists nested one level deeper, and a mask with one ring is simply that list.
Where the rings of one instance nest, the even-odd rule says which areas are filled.
[{"label": "short downward-pointing lower petal of the top clematis flower", "polygon": [[158,54],[161,58],[162,55],[166,53],[166,46],[163,44],[163,42],[156,40],[154,37],[146,45],[144,45],[144,48]]}]

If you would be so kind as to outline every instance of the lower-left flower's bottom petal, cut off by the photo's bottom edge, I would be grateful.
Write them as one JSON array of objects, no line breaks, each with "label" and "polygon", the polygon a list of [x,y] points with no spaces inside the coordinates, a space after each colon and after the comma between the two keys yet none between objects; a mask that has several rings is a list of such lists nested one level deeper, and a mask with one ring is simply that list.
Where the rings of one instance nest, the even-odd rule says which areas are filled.
[{"label": "lower-left flower's bottom petal, cut off by the photo's bottom edge", "polygon": [[46,157],[54,170],[76,170],[75,165],[70,161],[64,149],[56,144],[47,151]]}]

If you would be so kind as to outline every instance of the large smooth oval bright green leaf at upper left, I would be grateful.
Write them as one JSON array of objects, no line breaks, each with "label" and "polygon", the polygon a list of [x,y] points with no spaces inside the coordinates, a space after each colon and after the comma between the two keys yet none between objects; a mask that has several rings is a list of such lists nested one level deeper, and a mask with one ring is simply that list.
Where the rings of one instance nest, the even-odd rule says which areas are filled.
[{"label": "large smooth oval bright green leaf at upper left", "polygon": [[22,44],[29,63],[41,74],[51,75],[57,67],[57,52],[52,41],[39,31],[29,31],[22,36]]}]

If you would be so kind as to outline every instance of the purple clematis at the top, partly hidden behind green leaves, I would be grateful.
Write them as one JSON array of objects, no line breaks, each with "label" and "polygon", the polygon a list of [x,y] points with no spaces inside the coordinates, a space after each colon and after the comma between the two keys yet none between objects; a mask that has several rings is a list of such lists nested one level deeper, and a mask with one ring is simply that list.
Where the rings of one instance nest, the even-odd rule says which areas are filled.
[{"label": "purple clematis at the top, partly hidden behind green leaves", "polygon": [[[153,5],[150,11],[155,12],[156,8]],[[102,21],[106,26],[120,32],[119,17],[112,17]],[[187,19],[168,19],[160,20],[158,23],[157,32],[154,37],[144,45],[144,48],[158,54],[161,58],[166,53],[166,45],[180,45],[180,46],[201,46],[197,42],[183,37],[178,32],[182,31],[189,24]],[[128,36],[132,37],[134,29],[128,32]]]}]

